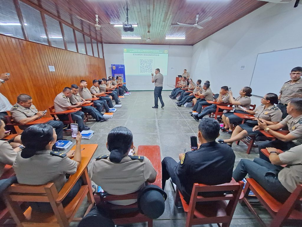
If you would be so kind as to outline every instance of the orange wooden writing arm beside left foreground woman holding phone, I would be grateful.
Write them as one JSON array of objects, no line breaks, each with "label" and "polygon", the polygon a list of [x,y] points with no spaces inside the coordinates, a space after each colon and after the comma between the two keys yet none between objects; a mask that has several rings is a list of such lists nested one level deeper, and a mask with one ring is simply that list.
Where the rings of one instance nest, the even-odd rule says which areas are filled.
[{"label": "orange wooden writing arm beside left foreground woman holding phone", "polygon": [[[82,150],[83,148],[84,148],[84,150]],[[56,200],[57,203],[63,201],[63,199],[67,196],[68,192],[72,189],[72,187],[75,185],[75,183],[80,178],[80,176],[82,176],[84,184],[87,184],[88,188],[89,188],[90,198],[88,198],[88,201],[90,200],[90,201],[93,201],[92,204],[94,203],[94,198],[92,195],[92,184],[91,184],[90,178],[88,176],[87,166],[97,148],[98,148],[98,144],[81,144],[82,159],[81,159],[80,166],[77,169],[76,173],[69,177],[66,184],[60,190],[58,199]],[[75,150],[75,149],[76,149],[76,146],[73,146],[72,150]]]}]

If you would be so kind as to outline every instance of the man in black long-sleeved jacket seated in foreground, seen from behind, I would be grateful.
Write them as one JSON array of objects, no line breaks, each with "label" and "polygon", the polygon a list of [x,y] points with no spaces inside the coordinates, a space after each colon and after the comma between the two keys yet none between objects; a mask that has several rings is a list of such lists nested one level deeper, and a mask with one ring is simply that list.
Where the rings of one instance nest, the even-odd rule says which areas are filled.
[{"label": "man in black long-sleeved jacket seated in foreground, seen from behind", "polygon": [[198,150],[179,154],[179,163],[171,157],[162,160],[162,189],[171,177],[189,203],[194,183],[217,185],[231,181],[235,154],[228,145],[215,141],[219,130],[219,123],[213,118],[201,119]]}]

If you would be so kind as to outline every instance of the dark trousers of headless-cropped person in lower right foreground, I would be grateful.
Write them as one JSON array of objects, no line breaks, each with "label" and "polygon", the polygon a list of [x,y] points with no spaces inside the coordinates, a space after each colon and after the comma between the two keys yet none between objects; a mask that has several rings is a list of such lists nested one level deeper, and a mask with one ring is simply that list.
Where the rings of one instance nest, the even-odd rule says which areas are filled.
[{"label": "dark trousers of headless-cropped person in lower right foreground", "polygon": [[275,166],[261,158],[255,158],[254,161],[241,159],[233,172],[233,178],[239,181],[249,174],[249,177],[259,183],[265,191],[283,203],[291,193],[278,179],[281,169],[283,169],[282,166]]}]

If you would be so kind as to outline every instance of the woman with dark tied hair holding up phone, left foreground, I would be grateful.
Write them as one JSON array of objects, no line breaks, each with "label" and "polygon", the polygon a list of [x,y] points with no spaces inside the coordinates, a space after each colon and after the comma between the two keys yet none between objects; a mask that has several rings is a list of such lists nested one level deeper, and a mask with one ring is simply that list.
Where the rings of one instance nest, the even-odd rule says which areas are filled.
[{"label": "woman with dark tied hair holding up phone, left foreground", "polygon": [[[76,150],[67,154],[52,151],[56,143],[55,130],[48,124],[35,124],[22,133],[21,140],[25,148],[18,153],[13,164],[19,184],[43,185],[53,182],[59,192],[66,183],[66,174],[75,174],[81,163],[81,133],[76,137]],[[73,159],[70,159],[73,157]],[[82,186],[79,179],[62,201],[66,206],[79,192]],[[51,212],[48,202],[30,202],[32,209],[39,212]]]}]

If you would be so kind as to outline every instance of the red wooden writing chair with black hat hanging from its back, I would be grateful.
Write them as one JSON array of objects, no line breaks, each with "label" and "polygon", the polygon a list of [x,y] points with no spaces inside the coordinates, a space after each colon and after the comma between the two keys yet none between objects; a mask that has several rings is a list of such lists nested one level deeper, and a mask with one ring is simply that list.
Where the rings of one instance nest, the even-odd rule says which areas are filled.
[{"label": "red wooden writing chair with black hat hanging from its back", "polygon": [[[154,169],[157,172],[156,181],[152,184],[162,187],[162,164],[159,146],[138,146],[138,155],[146,156],[151,161]],[[120,211],[124,209],[137,208],[137,202],[127,206],[108,203],[109,201],[115,200],[137,199],[137,196],[138,192],[133,192],[126,195],[106,194],[106,197],[104,198],[99,196],[98,193],[94,195],[97,206],[101,206],[102,208],[110,211],[108,212],[109,216],[115,225],[148,222],[148,227],[152,227],[153,220],[141,214],[139,211],[134,211],[127,214],[120,213]]]}]

